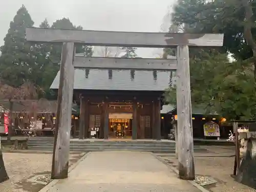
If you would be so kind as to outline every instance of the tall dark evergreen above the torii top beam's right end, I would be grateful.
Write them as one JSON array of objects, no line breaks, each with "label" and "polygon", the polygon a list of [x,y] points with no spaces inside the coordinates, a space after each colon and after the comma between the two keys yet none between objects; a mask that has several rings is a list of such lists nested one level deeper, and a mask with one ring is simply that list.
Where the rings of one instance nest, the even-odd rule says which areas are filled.
[{"label": "tall dark evergreen above the torii top beam's right end", "polygon": [[178,0],[172,22],[194,33],[224,33],[219,51],[228,51],[237,60],[250,58],[256,82],[255,6],[255,0]]}]

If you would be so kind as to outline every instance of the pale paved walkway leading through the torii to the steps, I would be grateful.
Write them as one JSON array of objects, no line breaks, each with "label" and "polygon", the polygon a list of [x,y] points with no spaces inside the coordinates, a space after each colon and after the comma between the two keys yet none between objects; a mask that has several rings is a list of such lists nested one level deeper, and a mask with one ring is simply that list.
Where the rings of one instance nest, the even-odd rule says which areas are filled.
[{"label": "pale paved walkway leading through the torii to the steps", "polygon": [[92,152],[48,192],[199,192],[151,153]]}]

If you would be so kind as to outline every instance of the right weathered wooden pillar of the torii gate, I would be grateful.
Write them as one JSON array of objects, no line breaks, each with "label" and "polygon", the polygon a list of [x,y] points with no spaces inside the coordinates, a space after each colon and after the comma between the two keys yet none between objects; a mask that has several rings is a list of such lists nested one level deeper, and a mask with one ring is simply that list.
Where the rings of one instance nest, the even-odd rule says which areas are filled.
[{"label": "right weathered wooden pillar of the torii gate", "polygon": [[191,116],[190,74],[188,46],[177,47],[177,116],[179,146],[179,176],[195,179],[194,143]]}]

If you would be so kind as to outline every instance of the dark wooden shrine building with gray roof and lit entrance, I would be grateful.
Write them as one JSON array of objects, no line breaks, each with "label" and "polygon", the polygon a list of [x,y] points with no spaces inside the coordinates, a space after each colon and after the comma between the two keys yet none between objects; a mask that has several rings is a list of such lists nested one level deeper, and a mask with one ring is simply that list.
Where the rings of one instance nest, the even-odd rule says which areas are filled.
[{"label": "dark wooden shrine building with gray roof and lit entrance", "polygon": [[[59,87],[59,74],[53,90]],[[98,127],[102,139],[160,140],[163,93],[171,82],[171,71],[75,67],[73,99],[80,104],[77,135],[90,138],[90,131]]]}]

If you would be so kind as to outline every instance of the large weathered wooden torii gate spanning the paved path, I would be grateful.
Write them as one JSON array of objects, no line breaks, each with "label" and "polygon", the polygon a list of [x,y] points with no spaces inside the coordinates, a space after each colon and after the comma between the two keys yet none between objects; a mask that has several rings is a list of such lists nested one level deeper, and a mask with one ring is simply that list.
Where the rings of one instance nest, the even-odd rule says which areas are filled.
[{"label": "large weathered wooden torii gate spanning the paved path", "polygon": [[[28,41],[62,43],[57,120],[52,162],[52,178],[68,177],[70,153],[71,105],[74,86],[74,65],[86,68],[175,70],[177,69],[178,159],[181,179],[195,179],[194,143],[191,118],[191,96],[188,46],[220,47],[223,34],[144,33],[89,30],[27,28]],[[102,59],[74,57],[74,44],[88,46],[176,48],[177,60],[130,59],[129,66]],[[81,58],[80,58],[81,59]],[[89,62],[89,60],[90,62]],[[95,62],[91,62],[91,61]],[[115,60],[114,60],[115,61]],[[162,61],[162,62],[161,62]],[[160,118],[160,117],[159,117]]]}]

